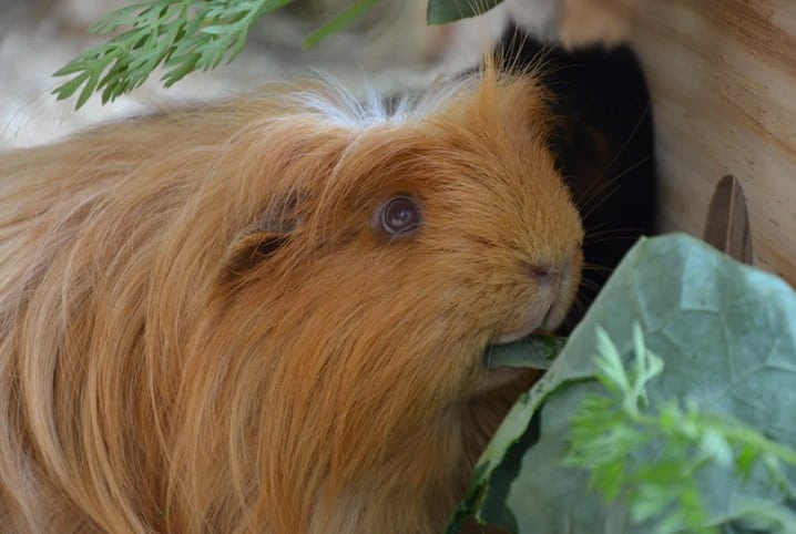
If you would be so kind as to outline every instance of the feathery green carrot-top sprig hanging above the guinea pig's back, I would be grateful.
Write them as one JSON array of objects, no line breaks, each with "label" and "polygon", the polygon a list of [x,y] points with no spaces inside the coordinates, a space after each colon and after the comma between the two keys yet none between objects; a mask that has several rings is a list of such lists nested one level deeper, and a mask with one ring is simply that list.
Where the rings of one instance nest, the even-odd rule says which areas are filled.
[{"label": "feathery green carrot-top sprig hanging above the guinea pig's back", "polygon": [[126,30],[58,70],[54,76],[72,79],[53,93],[65,99],[82,85],[80,109],[94,91],[102,91],[103,103],[132,91],[163,63],[166,86],[196,69],[215,69],[241,52],[252,24],[290,1],[153,0],[119,9],[91,31]]}]

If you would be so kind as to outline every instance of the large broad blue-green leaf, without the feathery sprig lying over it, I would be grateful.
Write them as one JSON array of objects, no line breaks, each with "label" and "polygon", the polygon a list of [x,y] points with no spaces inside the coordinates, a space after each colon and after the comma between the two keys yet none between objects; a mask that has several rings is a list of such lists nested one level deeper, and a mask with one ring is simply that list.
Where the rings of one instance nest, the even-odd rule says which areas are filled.
[{"label": "large broad blue-green leaf, without the feathery sprig lying over it", "polygon": [[[604,391],[595,379],[596,331],[608,332],[626,362],[633,324],[664,359],[664,371],[647,384],[652,408],[693,402],[700,411],[732,415],[771,440],[796,444],[796,294],[779,278],[694,238],[645,239],[496,433],[459,522],[473,514],[522,534],[656,532],[654,518],[632,524],[626,500],[608,504],[590,491],[588,471],[562,465],[573,414],[586,396]],[[652,460],[654,448],[645,454]],[[759,470],[744,481],[732,470],[711,470],[698,476],[712,524],[743,532],[728,518],[796,494],[794,470],[784,470],[774,490],[758,475]]]}]

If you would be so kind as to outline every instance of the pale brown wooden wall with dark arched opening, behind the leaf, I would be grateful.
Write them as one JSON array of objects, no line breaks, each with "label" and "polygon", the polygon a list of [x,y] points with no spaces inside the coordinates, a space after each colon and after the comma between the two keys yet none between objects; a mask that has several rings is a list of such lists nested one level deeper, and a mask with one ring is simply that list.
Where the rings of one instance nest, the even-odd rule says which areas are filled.
[{"label": "pale brown wooden wall with dark arched opening, behind the leaf", "polygon": [[660,227],[701,236],[737,178],[754,265],[796,286],[796,0],[563,0],[570,44],[625,39],[650,81]]}]

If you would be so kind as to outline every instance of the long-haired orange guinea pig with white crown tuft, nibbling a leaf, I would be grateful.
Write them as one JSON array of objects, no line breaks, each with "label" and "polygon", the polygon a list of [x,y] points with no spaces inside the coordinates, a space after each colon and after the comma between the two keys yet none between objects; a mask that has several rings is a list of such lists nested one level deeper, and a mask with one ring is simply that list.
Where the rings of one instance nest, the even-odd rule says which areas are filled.
[{"label": "long-haired orange guinea pig with white crown tuft, nibbling a leaf", "polygon": [[579,214],[533,76],[328,83],[0,155],[6,533],[439,533]]}]

